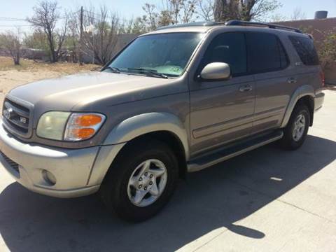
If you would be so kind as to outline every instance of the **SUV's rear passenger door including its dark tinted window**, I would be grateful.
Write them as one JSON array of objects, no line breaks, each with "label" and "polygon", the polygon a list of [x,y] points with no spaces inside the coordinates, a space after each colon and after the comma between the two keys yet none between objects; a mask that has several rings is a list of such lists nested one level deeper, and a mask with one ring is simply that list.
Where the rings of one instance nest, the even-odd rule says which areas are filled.
[{"label": "SUV's rear passenger door including its dark tinted window", "polygon": [[248,67],[255,79],[255,113],[252,133],[281,125],[297,80],[287,52],[276,34],[246,32]]}]

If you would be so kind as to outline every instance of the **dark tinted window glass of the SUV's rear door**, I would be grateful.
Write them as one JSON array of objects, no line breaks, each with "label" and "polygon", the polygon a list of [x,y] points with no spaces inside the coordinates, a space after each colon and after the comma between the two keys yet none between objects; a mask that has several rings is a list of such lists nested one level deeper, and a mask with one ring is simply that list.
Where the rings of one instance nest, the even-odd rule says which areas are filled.
[{"label": "dark tinted window glass of the SUV's rear door", "polygon": [[252,73],[276,71],[288,66],[288,57],[274,34],[262,32],[246,33],[248,45],[248,65]]}]

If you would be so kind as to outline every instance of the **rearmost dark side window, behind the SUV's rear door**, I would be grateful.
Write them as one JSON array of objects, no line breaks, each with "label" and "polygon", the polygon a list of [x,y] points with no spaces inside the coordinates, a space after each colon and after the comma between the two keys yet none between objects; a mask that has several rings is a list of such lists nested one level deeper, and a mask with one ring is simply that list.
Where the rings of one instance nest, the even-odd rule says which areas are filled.
[{"label": "rearmost dark side window, behind the SUV's rear door", "polygon": [[307,66],[318,65],[318,55],[311,38],[303,38],[300,36],[289,36],[297,54],[303,64]]}]

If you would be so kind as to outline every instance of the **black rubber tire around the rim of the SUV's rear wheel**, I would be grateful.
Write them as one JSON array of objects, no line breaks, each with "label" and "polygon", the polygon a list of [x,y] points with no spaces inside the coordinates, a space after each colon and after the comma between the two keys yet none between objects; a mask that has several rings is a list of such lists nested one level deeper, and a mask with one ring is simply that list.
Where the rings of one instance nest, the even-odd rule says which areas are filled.
[{"label": "black rubber tire around the rim of the SUV's rear wheel", "polygon": [[[300,139],[295,140],[295,138],[293,137],[293,130],[295,128],[295,120],[300,115],[304,116],[305,120],[304,131],[302,137],[300,137]],[[300,148],[307,137],[309,125],[310,125],[309,109],[304,104],[297,104],[290,116],[286,128],[283,130],[283,138],[280,141],[281,147],[288,151],[294,151],[297,148]]]}]

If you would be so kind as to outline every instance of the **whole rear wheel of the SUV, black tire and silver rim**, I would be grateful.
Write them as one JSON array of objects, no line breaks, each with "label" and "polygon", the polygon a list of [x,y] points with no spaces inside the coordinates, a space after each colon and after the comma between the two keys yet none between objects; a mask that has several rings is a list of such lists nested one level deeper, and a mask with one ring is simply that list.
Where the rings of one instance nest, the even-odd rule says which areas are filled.
[{"label": "whole rear wheel of the SUV, black tire and silver rim", "polygon": [[307,137],[310,124],[310,113],[307,106],[298,104],[295,106],[288,125],[283,131],[281,146],[287,150],[300,148]]}]

